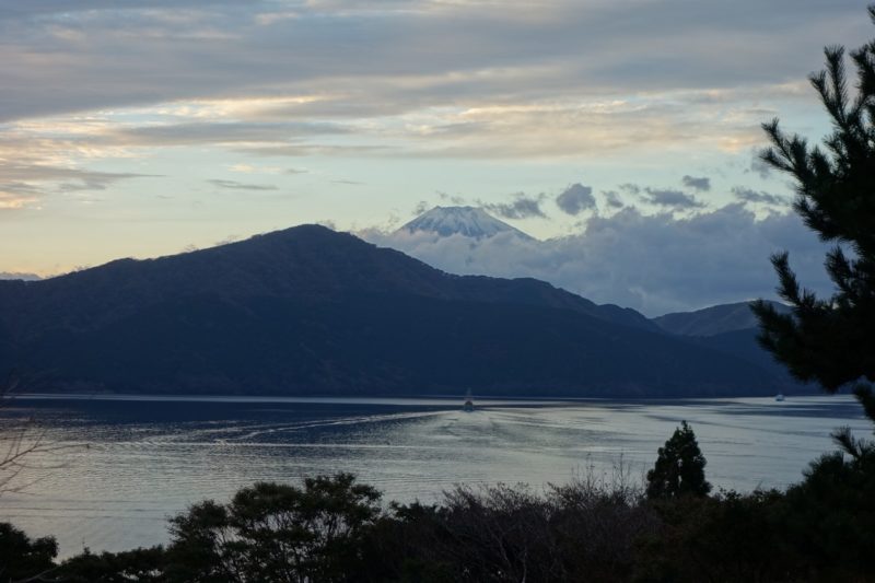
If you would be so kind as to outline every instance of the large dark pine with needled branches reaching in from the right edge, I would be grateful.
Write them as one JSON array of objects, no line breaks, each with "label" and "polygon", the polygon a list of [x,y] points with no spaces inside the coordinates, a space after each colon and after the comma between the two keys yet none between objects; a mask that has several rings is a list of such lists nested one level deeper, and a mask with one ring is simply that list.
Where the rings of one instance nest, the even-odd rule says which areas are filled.
[{"label": "large dark pine with needled branches reaching in from the right edge", "polygon": [[[875,22],[875,5],[868,8]],[[851,53],[856,91],[849,96],[844,48],[827,47],[826,70],[809,77],[832,121],[822,149],[785,135],[778,119],[763,124],[770,166],[795,183],[793,208],[825,242],[833,242],[826,269],[836,285],[820,299],[800,285],[786,252],[772,256],[778,293],[792,307],[779,314],[762,300],[752,310],[759,342],[802,381],[828,393],[853,386],[875,421],[875,40]]]}]

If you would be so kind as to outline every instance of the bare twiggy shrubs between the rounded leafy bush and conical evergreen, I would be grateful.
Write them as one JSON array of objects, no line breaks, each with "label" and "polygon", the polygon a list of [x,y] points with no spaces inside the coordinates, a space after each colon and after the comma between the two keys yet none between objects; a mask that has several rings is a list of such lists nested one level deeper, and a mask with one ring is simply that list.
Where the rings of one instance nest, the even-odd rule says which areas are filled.
[{"label": "bare twiggy shrubs between the rounded leafy bush and conical evergreen", "polygon": [[594,479],[551,486],[459,486],[440,505],[394,505],[375,532],[388,581],[627,581],[635,539],[656,521],[641,489]]}]

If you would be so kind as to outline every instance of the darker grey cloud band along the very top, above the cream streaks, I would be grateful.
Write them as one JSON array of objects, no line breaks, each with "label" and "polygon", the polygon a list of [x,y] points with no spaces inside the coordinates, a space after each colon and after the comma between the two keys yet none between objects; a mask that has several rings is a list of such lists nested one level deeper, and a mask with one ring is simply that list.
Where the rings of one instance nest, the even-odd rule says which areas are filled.
[{"label": "darker grey cloud band along the very top, above the cream streaks", "polygon": [[337,98],[302,100],[303,117],[397,115],[452,96],[530,103],[602,88],[749,86],[803,79],[817,62],[810,39],[824,23],[851,46],[870,32],[849,0],[796,2],[793,19],[788,2],[755,0],[707,8],[558,0],[537,11],[518,1],[501,11],[425,0],[18,4],[36,8],[0,12],[0,78],[18,81],[4,86],[8,119],[209,96],[311,96],[314,86]]}]

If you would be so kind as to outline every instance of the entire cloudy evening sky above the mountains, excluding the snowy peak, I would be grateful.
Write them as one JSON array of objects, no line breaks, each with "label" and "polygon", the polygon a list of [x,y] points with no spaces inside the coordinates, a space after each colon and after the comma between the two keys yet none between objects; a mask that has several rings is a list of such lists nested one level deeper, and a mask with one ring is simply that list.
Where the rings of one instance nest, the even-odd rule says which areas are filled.
[{"label": "entire cloudy evening sky above the mountains, excluding the snowy peak", "polygon": [[[768,295],[822,245],[760,124],[818,140],[847,0],[0,0],[0,273],[302,223],[650,315]],[[393,240],[436,205],[537,237]],[[466,271],[466,272],[467,272]]]}]

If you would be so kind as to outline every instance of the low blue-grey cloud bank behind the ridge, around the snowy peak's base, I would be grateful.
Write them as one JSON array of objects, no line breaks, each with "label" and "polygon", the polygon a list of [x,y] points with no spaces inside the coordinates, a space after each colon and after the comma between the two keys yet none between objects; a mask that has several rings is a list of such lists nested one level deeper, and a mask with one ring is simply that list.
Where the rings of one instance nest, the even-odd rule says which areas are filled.
[{"label": "low blue-grey cloud bank behind the ridge, around the snowy peak's base", "polygon": [[598,303],[656,316],[755,298],[774,299],[769,256],[790,250],[802,283],[829,293],[826,246],[792,212],[758,219],[740,203],[678,219],[626,208],[586,231],[548,241],[479,241],[428,233],[361,233],[452,273],[534,277]]}]

